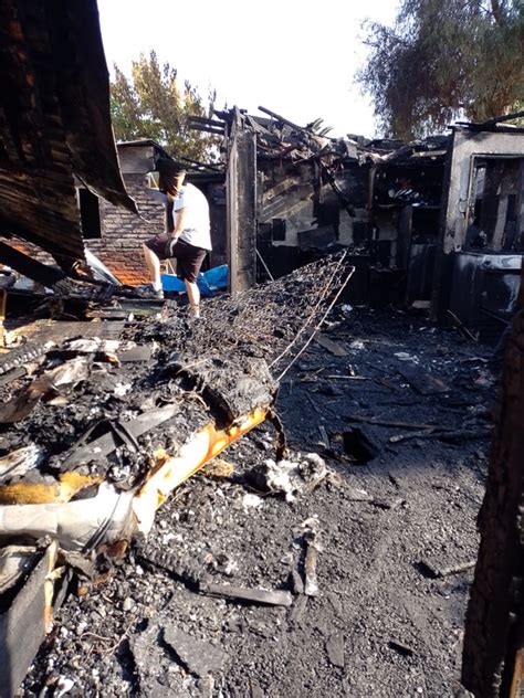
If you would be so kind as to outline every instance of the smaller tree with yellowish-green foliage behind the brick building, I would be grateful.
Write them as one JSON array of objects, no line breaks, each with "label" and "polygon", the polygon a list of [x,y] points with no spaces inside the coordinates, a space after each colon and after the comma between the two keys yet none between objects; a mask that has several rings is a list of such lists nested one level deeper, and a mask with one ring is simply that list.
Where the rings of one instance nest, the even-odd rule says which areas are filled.
[{"label": "smaller tree with yellowish-green foliage behind the brick building", "polygon": [[189,116],[210,116],[214,93],[205,101],[188,81],[180,84],[176,68],[160,66],[154,51],[132,64],[128,80],[115,65],[111,82],[111,113],[117,140],[151,138],[174,157],[209,159],[216,137],[188,128]]}]

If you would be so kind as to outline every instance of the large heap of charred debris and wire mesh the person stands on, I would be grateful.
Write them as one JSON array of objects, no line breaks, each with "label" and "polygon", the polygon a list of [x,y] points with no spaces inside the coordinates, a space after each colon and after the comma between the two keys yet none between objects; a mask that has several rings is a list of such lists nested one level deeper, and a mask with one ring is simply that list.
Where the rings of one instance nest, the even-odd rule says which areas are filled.
[{"label": "large heap of charred debris and wire mesh the person stands on", "polygon": [[[63,337],[43,332],[2,356],[0,603],[12,687],[72,570],[103,577],[170,490],[252,426],[277,423],[279,380],[350,274],[337,255],[212,298],[199,322],[167,303],[149,318],[78,324],[87,337],[69,322]],[[15,627],[32,580],[38,593]],[[33,637],[24,652],[22,631]]]}]

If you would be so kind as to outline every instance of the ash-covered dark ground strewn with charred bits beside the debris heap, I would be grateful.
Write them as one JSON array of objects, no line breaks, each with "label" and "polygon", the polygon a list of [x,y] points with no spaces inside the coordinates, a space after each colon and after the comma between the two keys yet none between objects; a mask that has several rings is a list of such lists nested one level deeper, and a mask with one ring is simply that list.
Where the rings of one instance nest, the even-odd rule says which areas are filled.
[{"label": "ash-covered dark ground strewn with charred bits beside the debris heap", "polygon": [[452,696],[488,359],[423,316],[336,310],[281,384],[285,467],[265,424],[181,486],[107,583],[69,597],[19,695]]}]

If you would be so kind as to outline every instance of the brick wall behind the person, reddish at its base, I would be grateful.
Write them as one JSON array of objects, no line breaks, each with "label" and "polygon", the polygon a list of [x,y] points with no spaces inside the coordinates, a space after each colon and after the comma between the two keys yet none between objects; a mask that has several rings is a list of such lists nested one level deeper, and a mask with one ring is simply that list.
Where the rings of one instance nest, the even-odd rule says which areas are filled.
[{"label": "brick wall behind the person, reddish at its base", "polygon": [[120,282],[143,284],[149,278],[142,243],[164,231],[164,205],[146,193],[143,174],[124,174],[124,181],[142,218],[99,199],[102,237],[85,242]]}]

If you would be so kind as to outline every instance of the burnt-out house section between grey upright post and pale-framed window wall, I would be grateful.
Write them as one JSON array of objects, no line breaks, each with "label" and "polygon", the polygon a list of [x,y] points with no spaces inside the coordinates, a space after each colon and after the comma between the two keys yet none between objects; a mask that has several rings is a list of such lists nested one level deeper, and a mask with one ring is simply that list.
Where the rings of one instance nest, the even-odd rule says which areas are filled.
[{"label": "burnt-out house section between grey upright post and pale-framed window wall", "polygon": [[227,144],[232,283],[277,277],[346,247],[353,302],[429,302],[450,138],[332,139],[261,110],[268,117],[216,115]]}]

